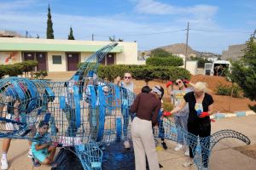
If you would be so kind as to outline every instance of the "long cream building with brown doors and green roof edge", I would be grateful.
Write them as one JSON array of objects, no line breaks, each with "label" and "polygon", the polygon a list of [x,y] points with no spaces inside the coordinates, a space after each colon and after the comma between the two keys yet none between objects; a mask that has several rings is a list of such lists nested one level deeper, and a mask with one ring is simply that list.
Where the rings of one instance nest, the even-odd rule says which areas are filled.
[{"label": "long cream building with brown doors and green roof edge", "polygon": [[[0,37],[0,65],[38,60],[38,71],[76,71],[79,62],[110,42]],[[144,65],[137,59],[137,42],[119,42],[103,65]]]}]

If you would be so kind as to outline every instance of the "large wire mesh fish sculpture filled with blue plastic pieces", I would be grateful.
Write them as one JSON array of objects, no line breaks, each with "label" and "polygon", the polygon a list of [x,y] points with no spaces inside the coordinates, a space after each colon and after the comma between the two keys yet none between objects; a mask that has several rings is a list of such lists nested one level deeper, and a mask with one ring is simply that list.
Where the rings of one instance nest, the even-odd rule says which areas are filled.
[{"label": "large wire mesh fish sculpture filled with blue plastic pieces", "polygon": [[[86,151],[78,152],[80,160],[89,167],[88,157],[96,154],[93,144],[131,139],[131,118],[124,115],[129,113],[129,105],[125,105],[124,100],[132,102],[135,95],[97,77],[98,61],[116,45],[110,44],[93,54],[67,82],[30,81],[19,77],[0,80],[0,137],[39,140],[32,138],[36,125],[41,121],[49,122],[54,144],[92,144],[86,146]],[[203,167],[202,162],[208,163],[212,147],[220,139],[236,138],[250,143],[246,136],[232,130],[199,139],[167,119],[159,131],[155,129],[156,136],[173,141],[177,141],[177,132],[182,132],[188,144],[195,145],[193,155],[199,169]],[[87,161],[82,155],[87,156]]]}]

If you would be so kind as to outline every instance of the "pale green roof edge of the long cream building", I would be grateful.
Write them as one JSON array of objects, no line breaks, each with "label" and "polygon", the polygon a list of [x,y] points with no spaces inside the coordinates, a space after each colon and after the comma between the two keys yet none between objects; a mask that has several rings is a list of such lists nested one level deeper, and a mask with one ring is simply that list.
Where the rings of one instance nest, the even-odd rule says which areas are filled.
[{"label": "pale green roof edge of the long cream building", "polygon": [[[64,51],[64,52],[96,52],[104,45],[85,44],[53,44],[31,42],[0,42],[0,51]],[[123,46],[116,46],[110,52],[122,53]]]}]

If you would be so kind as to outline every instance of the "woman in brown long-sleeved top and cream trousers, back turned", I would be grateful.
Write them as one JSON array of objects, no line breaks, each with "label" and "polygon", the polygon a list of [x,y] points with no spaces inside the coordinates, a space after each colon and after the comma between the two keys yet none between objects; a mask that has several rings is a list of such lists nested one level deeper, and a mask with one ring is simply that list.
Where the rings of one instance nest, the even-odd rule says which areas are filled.
[{"label": "woman in brown long-sleeved top and cream trousers, back turned", "polygon": [[[131,139],[134,147],[136,170],[146,170],[146,156],[150,170],[159,170],[152,126],[157,126],[157,116],[161,103],[160,90],[137,95],[131,105],[131,113],[137,113],[131,122]],[[145,156],[146,155],[146,156]]]}]

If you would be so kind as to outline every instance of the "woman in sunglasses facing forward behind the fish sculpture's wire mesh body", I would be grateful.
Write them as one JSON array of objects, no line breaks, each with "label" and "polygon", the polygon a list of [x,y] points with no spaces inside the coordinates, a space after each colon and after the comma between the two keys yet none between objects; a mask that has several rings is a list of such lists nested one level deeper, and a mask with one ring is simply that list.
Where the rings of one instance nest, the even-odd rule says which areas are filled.
[{"label": "woman in sunglasses facing forward behind the fish sculpture's wire mesh body", "polygon": [[124,81],[121,81],[120,77],[116,78],[117,85],[121,87],[121,94],[122,94],[122,105],[121,105],[121,113],[124,119],[123,125],[123,133],[125,137],[125,148],[130,149],[131,144],[128,140],[127,131],[129,125],[129,116],[130,113],[130,106],[133,99],[133,90],[134,90],[134,83],[132,82],[132,77],[130,72],[125,72]]}]

